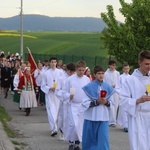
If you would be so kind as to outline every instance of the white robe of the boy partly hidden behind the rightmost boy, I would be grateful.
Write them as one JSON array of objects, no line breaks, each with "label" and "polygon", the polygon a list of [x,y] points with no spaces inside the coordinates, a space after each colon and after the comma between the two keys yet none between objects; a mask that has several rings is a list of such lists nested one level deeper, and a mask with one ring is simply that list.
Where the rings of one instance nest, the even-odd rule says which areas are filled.
[{"label": "white robe of the boy partly hidden behind the rightmost boy", "polygon": [[[117,81],[115,91],[120,94],[120,90],[122,88],[122,85],[124,84],[127,77],[129,77],[129,74],[123,73],[119,76],[119,79]],[[128,128],[128,116],[127,113],[122,109],[122,106],[119,104],[119,111],[118,111],[118,118],[117,118],[117,124],[119,126],[122,126],[123,128]]]}]

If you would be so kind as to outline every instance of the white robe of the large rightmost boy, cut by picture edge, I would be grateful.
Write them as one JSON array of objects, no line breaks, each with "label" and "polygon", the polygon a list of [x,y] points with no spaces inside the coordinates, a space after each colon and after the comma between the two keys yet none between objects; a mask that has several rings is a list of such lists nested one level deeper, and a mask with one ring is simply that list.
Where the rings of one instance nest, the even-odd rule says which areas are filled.
[{"label": "white robe of the large rightmost boy, cut by picture edge", "polygon": [[145,95],[146,84],[150,84],[150,76],[143,76],[135,69],[120,92],[120,105],[129,114],[130,150],[150,150],[150,101],[136,104]]}]

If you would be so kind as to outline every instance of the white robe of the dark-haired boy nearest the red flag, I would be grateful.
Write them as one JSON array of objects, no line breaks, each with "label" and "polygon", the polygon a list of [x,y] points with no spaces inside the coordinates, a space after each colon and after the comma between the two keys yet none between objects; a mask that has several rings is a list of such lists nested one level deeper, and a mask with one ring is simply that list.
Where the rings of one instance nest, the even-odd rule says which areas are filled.
[{"label": "white robe of the dark-haired boy nearest the red flag", "polygon": [[58,83],[58,78],[61,75],[62,72],[57,68],[48,69],[43,74],[42,78],[41,90],[45,93],[46,110],[51,131],[57,131],[57,119],[60,100],[55,96],[55,92],[50,91],[50,88],[54,86],[54,81],[56,84]]}]

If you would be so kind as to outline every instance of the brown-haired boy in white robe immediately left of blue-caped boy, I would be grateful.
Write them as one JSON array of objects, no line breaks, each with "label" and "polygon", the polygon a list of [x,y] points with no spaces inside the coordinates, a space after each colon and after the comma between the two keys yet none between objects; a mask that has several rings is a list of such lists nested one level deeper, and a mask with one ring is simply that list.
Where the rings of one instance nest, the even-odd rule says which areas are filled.
[{"label": "brown-haired boy in white robe immediately left of blue-caped boy", "polygon": [[84,75],[86,63],[78,61],[76,65],[76,74],[70,76],[64,86],[64,98],[68,101],[68,131],[66,140],[69,141],[69,150],[80,150],[79,144],[82,141],[83,111],[82,96],[83,86],[90,82],[90,79]]}]

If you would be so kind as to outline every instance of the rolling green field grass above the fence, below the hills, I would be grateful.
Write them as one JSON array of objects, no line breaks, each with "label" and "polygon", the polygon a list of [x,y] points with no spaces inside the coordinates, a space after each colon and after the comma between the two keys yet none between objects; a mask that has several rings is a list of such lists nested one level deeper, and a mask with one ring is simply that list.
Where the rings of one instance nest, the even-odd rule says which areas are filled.
[{"label": "rolling green field grass above the fence, below the hills", "polygon": [[[0,49],[6,53],[7,51],[20,52],[19,32],[7,31],[2,34],[7,34],[7,36],[0,35]],[[14,36],[16,34],[18,36]],[[100,41],[100,33],[24,32],[24,35],[24,53],[27,53],[26,47],[29,47],[32,53],[37,54],[107,56],[107,50],[103,48],[103,42]]]}]

